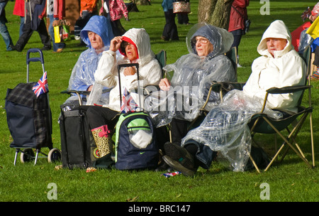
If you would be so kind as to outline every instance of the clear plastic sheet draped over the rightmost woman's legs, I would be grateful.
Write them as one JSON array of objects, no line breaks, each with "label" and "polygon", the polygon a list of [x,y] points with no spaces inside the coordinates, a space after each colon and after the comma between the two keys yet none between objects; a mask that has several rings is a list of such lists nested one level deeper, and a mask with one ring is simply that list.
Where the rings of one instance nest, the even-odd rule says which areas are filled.
[{"label": "clear plastic sheet draped over the rightmost woman's legs", "polygon": [[[239,90],[230,91],[223,98],[223,103],[211,109],[200,126],[189,131],[181,146],[190,140],[205,144],[218,151],[219,161],[233,171],[245,171],[252,142],[247,123],[252,114],[261,109],[261,99],[248,97]],[[280,112],[268,108],[265,113],[276,119],[282,117]]]}]

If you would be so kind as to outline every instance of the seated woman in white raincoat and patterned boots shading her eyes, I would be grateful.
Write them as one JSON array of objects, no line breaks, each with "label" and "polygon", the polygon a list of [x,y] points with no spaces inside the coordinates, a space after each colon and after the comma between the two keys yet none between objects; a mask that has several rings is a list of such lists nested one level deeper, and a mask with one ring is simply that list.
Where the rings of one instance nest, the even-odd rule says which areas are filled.
[{"label": "seated woman in white raincoat and patterned boots shading her eyes", "polygon": [[[125,56],[123,60],[116,59],[117,50]],[[140,86],[159,84],[162,69],[151,50],[150,36],[148,36],[144,28],[131,28],[123,36],[113,38],[109,50],[103,52],[94,75],[96,85],[103,85],[106,87],[115,86],[110,92],[108,104],[101,104],[103,106],[91,106],[86,112],[87,118],[89,119],[89,126],[94,136],[94,141],[99,149],[100,158],[104,157],[105,160],[111,158],[112,144],[108,134],[99,136],[99,132],[106,128],[110,130],[113,129],[118,121],[121,112],[121,96],[119,89],[120,77],[118,77],[116,65],[123,63],[139,64]],[[130,91],[138,87],[136,68],[121,68],[120,75],[121,92],[124,92],[124,89]],[[96,98],[99,98],[101,92],[96,94],[95,91],[99,92],[94,85],[89,96],[88,104],[94,103]],[[130,95],[138,104],[138,94],[130,92]],[[142,104],[138,104],[138,107],[142,107]],[[103,148],[103,146],[105,148]]]}]

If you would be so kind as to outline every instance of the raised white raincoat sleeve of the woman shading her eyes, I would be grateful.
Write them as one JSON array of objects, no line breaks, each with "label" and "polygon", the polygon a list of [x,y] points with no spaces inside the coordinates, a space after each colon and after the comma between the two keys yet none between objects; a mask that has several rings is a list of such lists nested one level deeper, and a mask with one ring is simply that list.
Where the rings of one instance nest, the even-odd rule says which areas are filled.
[{"label": "raised white raincoat sleeve of the woman shading her eyes", "polygon": [[117,82],[116,75],[116,53],[107,50],[103,52],[99,60],[98,67],[94,74],[95,82],[97,84],[113,87]]}]

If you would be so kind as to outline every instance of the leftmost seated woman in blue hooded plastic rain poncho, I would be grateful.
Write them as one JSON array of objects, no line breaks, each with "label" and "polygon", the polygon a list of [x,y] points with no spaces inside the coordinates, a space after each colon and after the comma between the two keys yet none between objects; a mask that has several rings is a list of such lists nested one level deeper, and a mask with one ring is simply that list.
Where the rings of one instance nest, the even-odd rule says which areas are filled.
[{"label": "leftmost seated woman in blue hooded plastic rain poncho", "polygon": [[[88,49],[81,53],[74,65],[69,78],[68,90],[91,91],[94,85],[94,73],[103,50],[108,50],[110,41],[114,37],[111,23],[103,16],[92,16],[80,32],[80,36]],[[69,97],[67,102],[77,99],[77,96]],[[103,95],[102,99],[107,102],[108,92]],[[85,104],[86,96],[83,96],[82,100]]]}]

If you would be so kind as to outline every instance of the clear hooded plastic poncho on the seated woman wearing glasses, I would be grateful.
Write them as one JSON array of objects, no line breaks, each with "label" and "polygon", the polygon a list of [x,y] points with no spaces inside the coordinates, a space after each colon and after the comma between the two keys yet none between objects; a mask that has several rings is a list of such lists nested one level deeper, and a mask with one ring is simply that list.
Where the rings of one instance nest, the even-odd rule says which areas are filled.
[{"label": "clear hooded plastic poncho on the seated woman wearing glasses", "polygon": [[[206,57],[196,53],[195,43],[191,40],[196,36],[205,37],[213,44],[213,51]],[[155,91],[145,98],[145,109],[157,127],[169,124],[172,118],[195,119],[206,101],[212,81],[237,81],[233,65],[224,55],[233,44],[231,33],[198,23],[189,31],[186,43],[189,54],[163,68],[167,74],[174,71],[169,91]],[[219,94],[212,92],[206,109],[211,109],[219,102]]]}]

